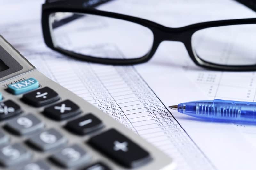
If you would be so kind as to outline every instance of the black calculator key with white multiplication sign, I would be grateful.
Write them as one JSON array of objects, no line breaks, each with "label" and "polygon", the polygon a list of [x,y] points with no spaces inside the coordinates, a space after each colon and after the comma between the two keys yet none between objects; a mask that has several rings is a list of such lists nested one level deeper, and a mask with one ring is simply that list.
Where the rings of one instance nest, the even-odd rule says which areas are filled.
[{"label": "black calculator key with white multiplication sign", "polygon": [[54,104],[44,110],[44,114],[55,120],[63,120],[80,114],[80,108],[70,100]]}]

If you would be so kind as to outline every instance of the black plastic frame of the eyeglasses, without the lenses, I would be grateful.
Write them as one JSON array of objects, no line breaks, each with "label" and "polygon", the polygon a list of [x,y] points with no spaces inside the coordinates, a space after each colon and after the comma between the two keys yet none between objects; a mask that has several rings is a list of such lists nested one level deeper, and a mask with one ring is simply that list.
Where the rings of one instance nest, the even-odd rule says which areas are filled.
[{"label": "black plastic frame of the eyeglasses, without the lenses", "polygon": [[[64,0],[64,1],[45,3],[42,5],[41,22],[42,22],[44,41],[49,48],[51,48],[52,50],[58,51],[62,54],[79,58],[85,61],[94,62],[94,63],[112,64],[112,65],[132,65],[132,64],[144,63],[150,60],[162,41],[180,41],[185,45],[190,58],[198,66],[208,68],[208,69],[213,69],[213,70],[221,70],[221,71],[256,70],[256,65],[228,66],[228,65],[220,65],[220,64],[207,62],[201,59],[199,56],[197,56],[196,52],[192,48],[192,43],[191,43],[192,35],[198,30],[210,28],[210,27],[218,27],[218,26],[256,24],[256,18],[210,21],[210,22],[196,23],[196,24],[185,26],[185,27],[170,28],[170,27],[165,27],[163,25],[149,21],[147,19],[142,19],[142,18],[133,17],[133,16],[124,15],[124,14],[118,14],[114,12],[101,11],[88,6],[84,7],[84,1],[78,0],[75,2],[76,3],[74,3],[74,1]],[[153,41],[152,48],[146,55],[140,58],[135,58],[135,59],[97,58],[93,56],[78,54],[72,51],[64,50],[54,44],[54,39],[52,36],[52,28],[50,25],[49,18],[50,18],[50,15],[55,12],[73,12],[73,13],[82,13],[82,14],[92,14],[92,15],[122,19],[122,20],[140,24],[144,27],[149,28],[153,33],[154,41]]]}]

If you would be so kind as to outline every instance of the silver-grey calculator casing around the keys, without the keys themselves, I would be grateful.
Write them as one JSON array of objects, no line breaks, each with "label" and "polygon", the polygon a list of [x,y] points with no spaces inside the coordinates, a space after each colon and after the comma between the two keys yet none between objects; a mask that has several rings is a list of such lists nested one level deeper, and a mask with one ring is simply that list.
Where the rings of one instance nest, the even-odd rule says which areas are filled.
[{"label": "silver-grey calculator casing around the keys, without the keys themselves", "polygon": [[[124,167],[120,163],[116,162],[113,158],[108,157],[107,154],[102,154],[101,151],[97,150],[95,147],[92,147],[87,142],[92,138],[93,136],[99,135],[108,129],[116,129],[118,132],[123,134],[124,136],[128,137],[131,141],[142,147],[145,151],[147,151],[150,154],[151,160],[147,163],[136,167],[137,170],[171,170],[174,168],[173,160],[164,154],[162,151],[158,150],[156,147],[154,147],[152,144],[148,143],[146,140],[142,139],[140,136],[133,133],[128,128],[125,128],[122,124],[108,116],[107,114],[101,112],[99,109],[94,107],[92,104],[89,104],[84,99],[78,97],[74,93],[70,92],[68,89],[65,89],[64,87],[60,86],[59,84],[55,83],[54,81],[50,80],[46,76],[44,76],[42,73],[40,73],[33,65],[31,65],[18,51],[16,51],[8,42],[4,40],[3,37],[0,36],[0,87],[1,92],[3,95],[3,100],[12,100],[16,104],[18,104],[21,109],[22,113],[20,115],[17,115],[15,117],[19,117],[22,115],[26,115],[28,113],[32,113],[35,115],[39,120],[44,122],[44,128],[42,129],[56,129],[58,132],[60,132],[65,138],[67,138],[67,142],[62,146],[68,147],[73,144],[79,145],[81,148],[84,149],[84,151],[87,152],[90,159],[88,159],[88,162],[84,162],[81,165],[77,165],[74,167],[62,167],[61,165],[56,164],[54,161],[51,161],[49,158],[51,156],[60,151],[61,147],[55,150],[50,151],[38,151],[34,149],[33,147],[30,147],[27,143],[28,139],[31,138],[35,134],[29,134],[29,135],[15,135],[12,132],[9,132],[5,128],[6,122],[15,119],[15,117],[2,120],[0,122],[1,130],[8,136],[8,142],[0,145],[0,152],[1,147],[4,147],[6,145],[14,144],[14,143],[20,143],[22,144],[30,153],[31,158],[30,162],[35,162],[37,160],[44,160],[51,166],[52,169],[86,169],[87,166],[90,166],[91,164],[95,162],[102,162],[105,165],[109,167],[109,169],[133,169],[129,167]],[[7,66],[7,67],[6,67]],[[55,103],[64,101],[66,99],[73,101],[76,103],[80,110],[82,111],[81,114],[76,115],[72,118],[68,118],[66,120],[56,121],[53,120],[44,114],[44,109],[48,106],[51,106],[52,104],[47,104],[42,107],[33,107],[21,100],[22,96],[24,94],[14,95],[7,91],[8,85],[23,81],[28,78],[35,78],[37,81],[39,81],[40,86],[37,89],[43,88],[43,87],[50,87],[54,91],[56,91],[60,97],[60,100],[56,101]],[[92,113],[93,115],[97,116],[104,125],[104,128],[101,128],[99,130],[96,130],[92,133],[89,133],[88,135],[76,135],[72,132],[66,130],[64,128],[65,124],[68,121],[74,120],[76,118],[79,118],[83,115],[86,115],[88,113]],[[39,133],[39,132],[37,132]],[[109,138],[114,136],[109,136]],[[128,145],[129,149],[129,145]],[[136,155],[136,152],[134,152]],[[28,163],[28,162],[26,162]],[[4,167],[0,166],[0,169],[19,169],[26,163],[18,163],[17,166],[10,166],[10,167]],[[92,168],[93,169],[93,168]],[[95,168],[96,170],[97,168]],[[37,169],[35,169],[37,170]]]}]

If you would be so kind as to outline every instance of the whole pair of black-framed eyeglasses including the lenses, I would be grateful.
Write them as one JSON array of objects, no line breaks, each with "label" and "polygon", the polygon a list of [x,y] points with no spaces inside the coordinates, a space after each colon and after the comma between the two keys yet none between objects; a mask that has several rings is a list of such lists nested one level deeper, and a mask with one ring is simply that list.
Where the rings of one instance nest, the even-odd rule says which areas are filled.
[{"label": "whole pair of black-framed eyeglasses including the lenses", "polygon": [[[131,65],[152,58],[162,41],[180,41],[198,66],[223,71],[256,70],[256,18],[169,28],[94,8],[108,1],[46,1],[42,6],[46,45],[89,62]],[[237,1],[256,11],[253,0]]]}]

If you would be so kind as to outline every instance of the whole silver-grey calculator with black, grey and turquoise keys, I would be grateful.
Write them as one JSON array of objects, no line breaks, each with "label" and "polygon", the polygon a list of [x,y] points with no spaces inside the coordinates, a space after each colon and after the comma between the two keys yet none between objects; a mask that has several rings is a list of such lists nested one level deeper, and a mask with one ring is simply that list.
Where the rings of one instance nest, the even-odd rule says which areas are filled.
[{"label": "whole silver-grey calculator with black, grey and turquoise keys", "polygon": [[2,36],[0,87],[0,169],[175,167],[155,146],[40,73]]}]

